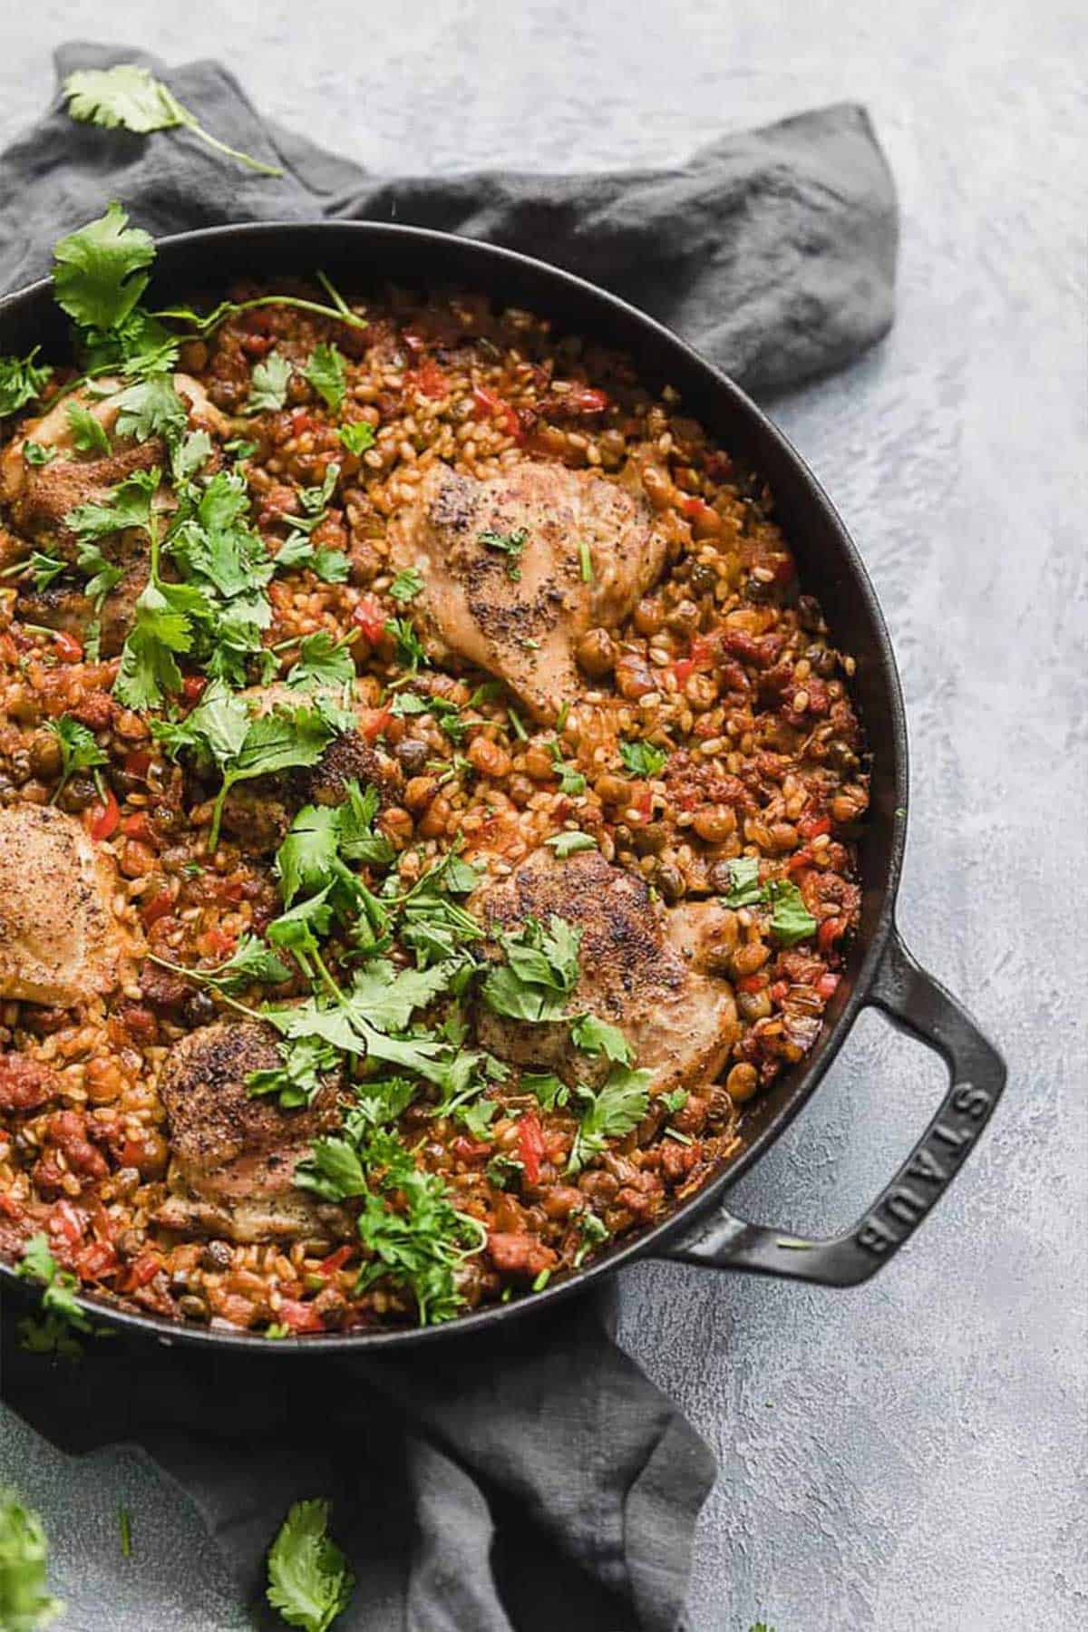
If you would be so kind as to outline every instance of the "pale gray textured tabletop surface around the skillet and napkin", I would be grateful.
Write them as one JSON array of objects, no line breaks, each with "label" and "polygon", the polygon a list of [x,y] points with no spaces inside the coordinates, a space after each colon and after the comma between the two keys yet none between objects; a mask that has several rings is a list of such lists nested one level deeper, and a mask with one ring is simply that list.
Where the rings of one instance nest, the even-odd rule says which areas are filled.
[{"label": "pale gray textured tabletop surface around the skillet and napkin", "polygon": [[[853,529],[899,653],[902,929],[1000,1040],[1011,1085],[876,1281],[835,1294],[643,1266],[623,1332],[721,1459],[695,1632],[1085,1625],[1083,5],[325,0],[299,16],[285,0],[3,0],[0,140],[51,93],[51,47],[88,31],[220,55],[269,114],[377,170],[662,160],[820,101],[873,111],[902,191],[899,322],[776,413]],[[920,1048],[865,1020],[739,1203],[847,1224],[940,1089]],[[8,1433],[3,1462],[44,1488],[29,1451]],[[170,1524],[191,1604],[139,1604],[93,1474],[65,1625],[96,1599],[147,1632],[240,1625],[186,1513]],[[144,1511],[163,1501],[135,1459],[126,1479]],[[72,1511],[57,1524],[77,1529]]]}]

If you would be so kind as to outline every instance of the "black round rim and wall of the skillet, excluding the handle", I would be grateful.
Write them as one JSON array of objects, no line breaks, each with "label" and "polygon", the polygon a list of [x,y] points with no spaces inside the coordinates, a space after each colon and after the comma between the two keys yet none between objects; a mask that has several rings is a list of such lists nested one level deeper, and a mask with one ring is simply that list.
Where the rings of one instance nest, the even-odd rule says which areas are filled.
[{"label": "black round rim and wall of the skillet, excluding the handle", "polygon": [[[626,351],[648,387],[672,385],[685,411],[742,463],[767,478],[776,519],[798,560],[801,583],[820,602],[834,641],[856,659],[853,695],[873,754],[871,808],[861,844],[861,925],[850,950],[845,978],[829,1005],[827,1023],[812,1053],[783,1072],[745,1111],[742,1146],[726,1169],[664,1222],[625,1239],[566,1281],[532,1299],[470,1314],[449,1325],[421,1330],[310,1335],[269,1343],[264,1337],[204,1327],[183,1327],[153,1315],[117,1309],[104,1299],[83,1299],[96,1317],[166,1343],[248,1348],[266,1355],[321,1351],[375,1353],[400,1345],[470,1338],[499,1322],[533,1319],[625,1263],[675,1250],[737,1178],[793,1121],[838,1053],[865,1005],[892,929],[902,868],[907,816],[907,726],[899,674],[887,628],[861,558],[830,499],[781,431],[724,374],[705,362],[661,323],[579,277],[542,261],[491,245],[416,227],[372,222],[246,224],[178,233],[158,242],[148,302],[168,304],[206,290],[222,297],[237,277],[269,279],[284,274],[328,273],[346,289],[396,282],[411,289],[460,286],[520,305],[553,320],[558,333],[582,335]],[[47,281],[0,300],[0,353],[65,356],[67,330]],[[8,1265],[0,1273],[26,1289]]]}]

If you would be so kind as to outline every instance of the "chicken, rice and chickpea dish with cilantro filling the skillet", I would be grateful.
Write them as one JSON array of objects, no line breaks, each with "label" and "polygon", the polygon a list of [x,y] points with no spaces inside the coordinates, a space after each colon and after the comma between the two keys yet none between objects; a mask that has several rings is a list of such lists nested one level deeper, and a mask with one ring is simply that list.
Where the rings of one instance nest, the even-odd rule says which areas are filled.
[{"label": "chicken, rice and chickpea dish with cilantro filling the skillet", "polygon": [[272,1337],[532,1296],[816,1041],[853,663],[630,359],[152,259],[111,207],[75,362],[0,359],[0,1252]]}]

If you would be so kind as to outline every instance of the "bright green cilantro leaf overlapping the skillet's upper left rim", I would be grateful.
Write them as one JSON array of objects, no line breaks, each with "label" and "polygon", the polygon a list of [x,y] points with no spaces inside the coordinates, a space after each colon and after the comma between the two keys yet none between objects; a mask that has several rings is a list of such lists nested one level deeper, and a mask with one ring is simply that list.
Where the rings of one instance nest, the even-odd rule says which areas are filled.
[{"label": "bright green cilantro leaf overlapping the skillet's upper left rim", "polygon": [[116,328],[147,289],[147,266],[155,259],[148,233],[129,227],[121,204],[62,238],[54,250],[52,286],[57,305],[80,328]]}]

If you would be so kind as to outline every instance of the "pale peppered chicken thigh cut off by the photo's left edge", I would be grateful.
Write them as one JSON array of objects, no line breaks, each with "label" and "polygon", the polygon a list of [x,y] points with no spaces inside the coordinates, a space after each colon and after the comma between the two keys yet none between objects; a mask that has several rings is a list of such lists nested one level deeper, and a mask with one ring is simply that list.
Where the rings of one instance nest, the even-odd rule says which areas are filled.
[{"label": "pale peppered chicken thigh cut off by the photo's left edge", "polygon": [[0,997],[60,1009],[111,992],[134,950],[113,916],[116,885],[73,816],[0,809]]}]

